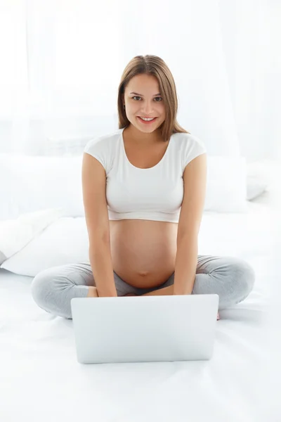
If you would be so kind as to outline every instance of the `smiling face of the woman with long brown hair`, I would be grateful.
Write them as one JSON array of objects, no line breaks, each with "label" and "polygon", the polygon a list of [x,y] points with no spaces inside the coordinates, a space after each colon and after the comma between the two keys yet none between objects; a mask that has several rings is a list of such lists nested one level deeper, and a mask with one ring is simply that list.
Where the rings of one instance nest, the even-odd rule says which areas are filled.
[{"label": "smiling face of the woman with long brown hair", "polygon": [[[157,78],[153,75],[132,77],[124,91],[123,103],[128,120],[143,133],[154,132],[165,120],[164,100]],[[145,123],[140,117],[156,118],[150,123]]]}]

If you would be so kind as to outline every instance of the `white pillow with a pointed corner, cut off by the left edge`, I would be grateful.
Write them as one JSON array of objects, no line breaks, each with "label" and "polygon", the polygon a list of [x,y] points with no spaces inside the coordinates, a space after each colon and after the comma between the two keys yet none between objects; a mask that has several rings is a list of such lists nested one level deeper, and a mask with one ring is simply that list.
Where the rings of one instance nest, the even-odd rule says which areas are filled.
[{"label": "white pillow with a pointed corner, cut off by the left edge", "polygon": [[0,264],[19,252],[41,231],[63,215],[63,210],[29,212],[18,219],[0,221]]}]

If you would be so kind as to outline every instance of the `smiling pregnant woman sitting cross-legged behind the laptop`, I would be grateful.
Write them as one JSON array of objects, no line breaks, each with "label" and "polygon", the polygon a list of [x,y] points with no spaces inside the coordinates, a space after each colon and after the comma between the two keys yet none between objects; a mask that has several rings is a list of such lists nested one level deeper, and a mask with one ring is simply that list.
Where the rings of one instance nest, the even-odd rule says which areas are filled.
[{"label": "smiling pregnant woman sitting cross-legged behind the laptop", "polygon": [[178,124],[177,110],[166,63],[133,58],[119,84],[119,129],[84,149],[89,262],[34,277],[32,296],[46,312],[72,319],[72,298],[204,293],[218,294],[224,309],[251,292],[246,261],[198,255],[207,151]]}]

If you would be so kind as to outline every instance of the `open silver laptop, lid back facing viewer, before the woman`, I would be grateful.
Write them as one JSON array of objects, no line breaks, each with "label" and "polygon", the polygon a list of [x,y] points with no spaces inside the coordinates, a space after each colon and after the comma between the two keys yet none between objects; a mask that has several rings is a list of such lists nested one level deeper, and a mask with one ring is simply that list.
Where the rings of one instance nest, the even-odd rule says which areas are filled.
[{"label": "open silver laptop, lid back facing viewer, before the woman", "polygon": [[81,364],[211,359],[218,295],[72,298]]}]

